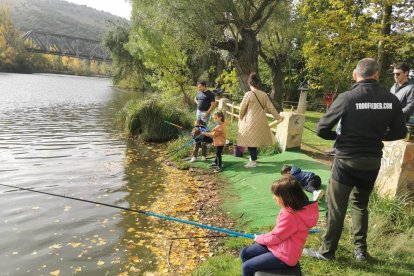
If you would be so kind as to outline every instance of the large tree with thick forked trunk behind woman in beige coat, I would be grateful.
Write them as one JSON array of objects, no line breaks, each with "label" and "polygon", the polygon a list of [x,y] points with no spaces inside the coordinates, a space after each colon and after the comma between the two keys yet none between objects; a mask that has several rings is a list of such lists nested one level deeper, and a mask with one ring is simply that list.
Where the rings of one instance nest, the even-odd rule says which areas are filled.
[{"label": "large tree with thick forked trunk behind woman in beige coat", "polygon": [[[134,13],[152,5],[165,16],[153,18],[179,26],[174,34],[180,40],[193,40],[194,46],[224,50],[231,55],[237,78],[247,91],[247,78],[258,71],[257,35],[273,13],[275,0],[133,0]],[[139,20],[136,21],[138,24]]]}]

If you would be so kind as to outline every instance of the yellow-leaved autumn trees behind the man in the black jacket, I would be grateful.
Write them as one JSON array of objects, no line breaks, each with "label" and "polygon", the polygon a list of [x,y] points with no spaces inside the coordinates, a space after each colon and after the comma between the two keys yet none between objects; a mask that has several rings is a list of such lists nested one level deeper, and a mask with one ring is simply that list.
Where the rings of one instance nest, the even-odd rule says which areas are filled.
[{"label": "yellow-leaved autumn trees behind the man in the black jacket", "polygon": [[384,81],[393,60],[412,55],[411,0],[304,0],[301,12],[308,76],[319,91],[348,89],[361,58],[378,59]]}]

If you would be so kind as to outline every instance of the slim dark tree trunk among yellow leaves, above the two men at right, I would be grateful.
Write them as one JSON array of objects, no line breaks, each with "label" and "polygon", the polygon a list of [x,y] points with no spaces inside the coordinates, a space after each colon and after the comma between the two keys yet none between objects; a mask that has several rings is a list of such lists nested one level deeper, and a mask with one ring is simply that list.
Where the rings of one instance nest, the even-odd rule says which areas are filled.
[{"label": "slim dark tree trunk among yellow leaves, above the two men at right", "polygon": [[389,52],[385,50],[385,37],[391,35],[391,13],[392,13],[392,5],[384,4],[384,9],[382,11],[382,18],[381,18],[381,34],[383,35],[384,39],[378,42],[378,73],[380,75],[380,79],[382,76],[386,74],[388,67],[390,66],[389,61]]}]

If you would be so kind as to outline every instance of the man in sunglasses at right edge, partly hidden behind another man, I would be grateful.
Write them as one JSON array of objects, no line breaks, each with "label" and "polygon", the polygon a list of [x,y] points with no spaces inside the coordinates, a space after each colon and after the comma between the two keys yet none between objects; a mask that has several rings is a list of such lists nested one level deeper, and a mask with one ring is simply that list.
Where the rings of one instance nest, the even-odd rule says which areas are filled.
[{"label": "man in sunglasses at right edge, partly hidden behind another man", "polygon": [[391,93],[400,100],[403,114],[408,118],[414,113],[414,84],[410,83],[410,67],[407,63],[401,62],[393,65],[395,84],[391,87]]}]

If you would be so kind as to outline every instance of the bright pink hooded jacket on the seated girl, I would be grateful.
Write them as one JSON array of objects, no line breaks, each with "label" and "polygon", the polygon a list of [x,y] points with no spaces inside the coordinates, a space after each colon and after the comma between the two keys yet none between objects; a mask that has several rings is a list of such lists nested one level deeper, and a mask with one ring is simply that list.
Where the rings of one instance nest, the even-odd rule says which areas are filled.
[{"label": "bright pink hooded jacket on the seated girl", "polygon": [[282,208],[275,228],[269,233],[257,236],[256,242],[266,245],[273,255],[285,264],[294,266],[302,255],[302,247],[309,235],[309,229],[316,225],[318,217],[317,202],[298,211]]}]

